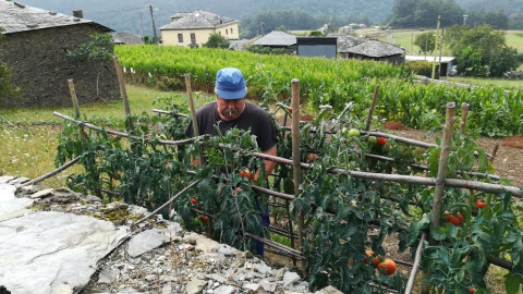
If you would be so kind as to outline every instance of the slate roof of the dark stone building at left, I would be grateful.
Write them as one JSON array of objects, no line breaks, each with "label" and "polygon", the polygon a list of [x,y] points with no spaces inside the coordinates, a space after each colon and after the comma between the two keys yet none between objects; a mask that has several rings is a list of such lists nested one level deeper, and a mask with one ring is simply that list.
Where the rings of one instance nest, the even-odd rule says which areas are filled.
[{"label": "slate roof of the dark stone building at left", "polygon": [[89,20],[0,0],[0,27],[3,27],[4,35],[76,24],[95,24],[102,30],[112,32],[111,28]]}]

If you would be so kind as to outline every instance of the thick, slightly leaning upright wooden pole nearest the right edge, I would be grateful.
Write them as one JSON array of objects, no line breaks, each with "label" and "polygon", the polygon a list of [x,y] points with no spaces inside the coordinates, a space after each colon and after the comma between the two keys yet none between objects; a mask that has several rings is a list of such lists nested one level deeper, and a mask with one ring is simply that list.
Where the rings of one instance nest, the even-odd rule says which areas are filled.
[{"label": "thick, slightly leaning upright wooden pole nearest the right edge", "polygon": [[430,223],[434,229],[439,229],[439,219],[441,218],[441,198],[445,191],[445,180],[447,179],[447,168],[449,164],[450,144],[452,140],[452,126],[455,118],[455,103],[447,103],[447,115],[445,121],[443,140],[441,142],[441,152],[439,155],[438,175],[436,177],[436,188],[434,192],[433,211]]}]

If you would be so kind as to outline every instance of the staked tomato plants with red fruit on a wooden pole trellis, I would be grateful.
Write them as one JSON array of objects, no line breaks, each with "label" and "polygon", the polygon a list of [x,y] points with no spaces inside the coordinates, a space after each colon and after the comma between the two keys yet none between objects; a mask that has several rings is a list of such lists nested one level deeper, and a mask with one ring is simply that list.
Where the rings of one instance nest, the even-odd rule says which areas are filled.
[{"label": "staked tomato plants with red fruit on a wooden pole trellis", "polygon": [[[313,289],[411,293],[421,269],[422,293],[488,293],[484,277],[494,265],[509,270],[507,292],[520,291],[523,189],[494,175],[491,155],[466,136],[467,105],[458,124],[455,105],[447,103],[443,138],[427,144],[370,131],[375,106],[384,109],[377,91],[366,121],[354,102],[340,113],[323,106],[303,122],[299,82],[290,88],[292,107],[262,103],[271,115],[284,113],[283,123],[275,120],[278,157],[260,154],[240,130],[186,139],[187,110],[163,99],[158,115],[132,115],[126,103],[119,126],[81,121],[77,106],[76,118],[54,113],[65,120],[57,164],[83,164],[85,173],[68,181],[76,191],[150,209],[169,205],[160,211],[166,217],[240,249],[254,252],[254,241],[262,242],[300,266]],[[278,162],[273,174],[250,179],[246,170],[263,173],[264,159]],[[258,217],[265,204],[279,218],[267,230]],[[385,258],[388,235],[414,264]],[[411,277],[396,264],[411,267]]]}]

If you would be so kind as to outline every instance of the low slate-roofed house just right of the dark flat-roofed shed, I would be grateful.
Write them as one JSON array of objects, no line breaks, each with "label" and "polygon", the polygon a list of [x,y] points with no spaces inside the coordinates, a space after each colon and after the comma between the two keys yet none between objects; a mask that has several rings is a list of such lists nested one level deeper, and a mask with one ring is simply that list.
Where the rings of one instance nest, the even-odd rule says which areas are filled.
[{"label": "low slate-roofed house just right of the dark flat-roofed shed", "polygon": [[400,47],[378,40],[366,40],[354,46],[338,49],[338,53],[343,58],[387,61],[396,64],[405,62],[404,52],[405,50]]}]

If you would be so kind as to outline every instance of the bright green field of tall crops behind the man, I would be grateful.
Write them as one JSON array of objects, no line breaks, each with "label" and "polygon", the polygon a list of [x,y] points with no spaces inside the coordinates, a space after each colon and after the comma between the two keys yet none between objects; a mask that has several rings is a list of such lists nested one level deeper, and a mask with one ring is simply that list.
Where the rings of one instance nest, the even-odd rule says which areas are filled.
[{"label": "bright green field of tall crops behind the man", "polygon": [[[211,90],[216,72],[226,66],[242,70],[251,98],[285,99],[290,81],[301,81],[311,106],[330,105],[341,111],[353,101],[353,114],[364,118],[376,86],[380,86],[377,115],[413,128],[442,125],[448,101],[471,105],[467,128],[484,136],[523,134],[521,90],[469,89],[424,85],[404,66],[357,60],[327,60],[294,56],[264,56],[217,49],[168,46],[119,46],[115,53],[125,68],[148,78],[181,78],[188,73],[193,87]],[[363,120],[362,120],[363,121]]]}]

